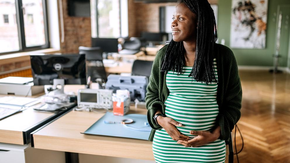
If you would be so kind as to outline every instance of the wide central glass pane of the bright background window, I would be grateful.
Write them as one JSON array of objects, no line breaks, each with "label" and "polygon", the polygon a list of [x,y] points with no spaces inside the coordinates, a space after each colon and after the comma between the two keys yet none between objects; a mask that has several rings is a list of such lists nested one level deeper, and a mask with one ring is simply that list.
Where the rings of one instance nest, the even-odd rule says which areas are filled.
[{"label": "wide central glass pane of the bright background window", "polygon": [[99,37],[120,37],[120,0],[99,0]]}]

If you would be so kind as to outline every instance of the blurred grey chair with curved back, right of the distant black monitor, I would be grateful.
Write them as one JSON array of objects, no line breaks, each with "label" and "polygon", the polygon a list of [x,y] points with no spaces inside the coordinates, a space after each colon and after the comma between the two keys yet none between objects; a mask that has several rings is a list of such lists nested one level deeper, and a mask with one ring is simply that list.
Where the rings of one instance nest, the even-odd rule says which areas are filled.
[{"label": "blurred grey chair with curved back, right of the distant black monitor", "polygon": [[119,51],[119,54],[136,54],[140,51],[141,41],[139,39],[126,40],[123,45],[123,49]]}]

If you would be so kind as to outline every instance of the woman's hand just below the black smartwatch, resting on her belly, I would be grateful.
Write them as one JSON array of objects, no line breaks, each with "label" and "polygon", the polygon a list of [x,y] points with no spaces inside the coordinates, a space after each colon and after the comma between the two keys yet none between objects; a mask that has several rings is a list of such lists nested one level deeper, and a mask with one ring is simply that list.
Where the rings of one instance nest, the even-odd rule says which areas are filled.
[{"label": "woman's hand just below the black smartwatch, resting on her belly", "polygon": [[179,141],[179,140],[185,140],[188,141],[190,138],[189,136],[185,136],[183,134],[181,134],[175,126],[177,127],[181,127],[182,124],[175,121],[174,119],[170,118],[170,117],[163,117],[163,116],[158,116],[157,117],[157,122],[158,124],[165,129],[165,131],[169,134],[169,136],[175,140],[175,141]]}]

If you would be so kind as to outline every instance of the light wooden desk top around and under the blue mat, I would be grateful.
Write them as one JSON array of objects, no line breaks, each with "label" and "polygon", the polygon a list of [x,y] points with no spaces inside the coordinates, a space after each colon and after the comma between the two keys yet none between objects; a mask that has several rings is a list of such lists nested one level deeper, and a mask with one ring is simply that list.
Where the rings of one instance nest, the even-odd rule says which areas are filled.
[{"label": "light wooden desk top around and under the blue mat", "polygon": [[[146,109],[131,107],[129,113],[146,112]],[[80,133],[103,115],[104,113],[70,111],[33,134],[34,148],[154,160],[151,141]]]}]

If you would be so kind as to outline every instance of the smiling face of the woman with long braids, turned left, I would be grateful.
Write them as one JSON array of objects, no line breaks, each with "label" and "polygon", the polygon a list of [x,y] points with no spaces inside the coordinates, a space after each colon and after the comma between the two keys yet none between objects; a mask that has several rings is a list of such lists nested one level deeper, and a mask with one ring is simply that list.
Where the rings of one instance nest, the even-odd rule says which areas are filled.
[{"label": "smiling face of the woman with long braids, turned left", "polygon": [[193,41],[196,37],[196,15],[185,4],[178,4],[171,23],[173,41]]}]

